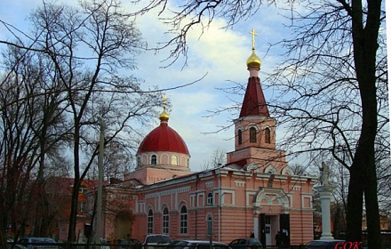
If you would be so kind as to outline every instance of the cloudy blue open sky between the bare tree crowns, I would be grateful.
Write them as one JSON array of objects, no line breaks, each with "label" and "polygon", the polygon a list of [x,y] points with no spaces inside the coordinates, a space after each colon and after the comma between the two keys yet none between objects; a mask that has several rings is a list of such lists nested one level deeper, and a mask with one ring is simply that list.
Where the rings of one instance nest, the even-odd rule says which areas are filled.
[{"label": "cloudy blue open sky between the bare tree crowns", "polygon": [[[4,1],[0,8],[0,17],[23,29],[26,28],[25,20],[28,13],[39,4],[42,2],[37,0]],[[123,4],[124,8],[129,10],[137,7],[126,4],[126,0],[123,0]],[[148,12],[135,21],[136,27],[140,29],[142,38],[149,47],[164,42],[169,37],[165,35],[169,27],[158,20],[157,11]],[[180,133],[188,145],[191,171],[202,170],[203,164],[212,157],[216,149],[226,152],[234,150],[232,126],[227,131],[214,132],[218,131],[220,126],[232,124],[232,119],[237,116],[228,113],[207,116],[212,110],[234,104],[230,99],[233,96],[227,96],[225,92],[219,90],[220,88],[232,86],[231,82],[242,84],[247,82],[249,72],[245,63],[251,55],[252,42],[249,32],[252,28],[259,34],[255,37],[255,46],[256,53],[262,61],[259,71],[260,81],[262,82],[262,77],[268,70],[282,60],[280,51],[267,51],[267,48],[269,44],[274,44],[283,36],[289,35],[290,31],[283,28],[284,21],[275,6],[265,6],[251,18],[235,24],[233,28],[223,28],[227,22],[221,18],[215,18],[211,27],[204,30],[203,34],[201,28],[192,28],[188,33],[186,67],[183,67],[183,58],[180,58],[170,67],[164,68],[167,62],[162,60],[166,58],[169,50],[157,54],[142,52],[138,56],[138,69],[133,71],[132,75],[143,79],[145,88],[147,85],[158,85],[160,89],[171,88],[197,81],[206,74],[196,84],[165,92],[172,105],[169,109],[169,125]],[[4,28],[0,27],[0,37],[3,36],[1,35],[3,32]],[[238,95],[234,100],[242,101],[243,96]],[[153,122],[153,126],[159,124],[157,116]],[[145,134],[148,132],[142,131]],[[278,129],[276,133],[278,141]]]}]

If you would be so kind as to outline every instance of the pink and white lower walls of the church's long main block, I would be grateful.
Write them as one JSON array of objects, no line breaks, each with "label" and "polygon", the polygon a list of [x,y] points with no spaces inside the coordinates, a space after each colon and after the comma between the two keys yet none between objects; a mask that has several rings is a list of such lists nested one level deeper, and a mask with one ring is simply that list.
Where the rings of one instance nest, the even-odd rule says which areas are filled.
[{"label": "pink and white lower walls of the church's long main block", "polygon": [[[212,217],[212,238],[216,241],[229,243],[236,237],[249,237],[259,213],[274,215],[272,232],[276,233],[278,215],[289,213],[291,243],[299,245],[313,237],[312,184],[313,179],[286,175],[272,177],[269,173],[232,169],[215,169],[162,181],[137,192],[132,204],[135,212],[132,237],[143,241],[148,234],[149,210],[154,213],[153,233],[163,233],[163,210],[167,207],[172,239],[208,239],[208,215]],[[211,204],[208,204],[209,193],[213,197]],[[182,205],[188,209],[188,232],[185,234],[180,233]],[[260,232],[258,236],[261,236]]]}]

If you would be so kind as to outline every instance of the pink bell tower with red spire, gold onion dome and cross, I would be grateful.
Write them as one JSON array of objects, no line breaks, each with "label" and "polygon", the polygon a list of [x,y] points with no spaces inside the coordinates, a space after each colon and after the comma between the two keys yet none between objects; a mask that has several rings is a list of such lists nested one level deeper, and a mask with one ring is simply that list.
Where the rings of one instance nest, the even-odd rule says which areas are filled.
[{"label": "pink bell tower with red spire, gold onion dome and cross", "polygon": [[[275,150],[275,118],[270,117],[267,102],[259,80],[261,61],[255,53],[255,30],[252,29],[252,52],[246,61],[250,72],[242,109],[235,124],[235,151],[227,153],[227,165],[244,166],[254,163],[266,168],[270,158],[279,157],[286,165],[284,152]],[[282,167],[281,162],[275,163]],[[263,172],[263,171],[262,171]]]}]

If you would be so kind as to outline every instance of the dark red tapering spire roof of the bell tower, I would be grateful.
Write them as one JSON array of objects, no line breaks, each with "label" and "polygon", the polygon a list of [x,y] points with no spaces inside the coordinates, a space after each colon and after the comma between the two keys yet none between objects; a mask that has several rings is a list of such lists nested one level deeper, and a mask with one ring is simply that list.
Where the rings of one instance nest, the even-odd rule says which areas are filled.
[{"label": "dark red tapering spire roof of the bell tower", "polygon": [[269,116],[259,77],[250,77],[244,94],[240,116]]}]

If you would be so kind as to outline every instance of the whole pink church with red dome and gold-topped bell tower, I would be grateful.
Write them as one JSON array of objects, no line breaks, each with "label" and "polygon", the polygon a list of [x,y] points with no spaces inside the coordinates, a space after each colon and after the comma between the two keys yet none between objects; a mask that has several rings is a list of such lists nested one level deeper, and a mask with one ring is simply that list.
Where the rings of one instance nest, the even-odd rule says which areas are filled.
[{"label": "whole pink church with red dome and gold-topped bell tower", "polygon": [[278,232],[288,245],[313,239],[317,180],[295,175],[285,152],[275,147],[276,120],[260,84],[254,34],[246,63],[250,76],[234,120],[235,150],[227,153],[227,164],[190,171],[188,147],[169,126],[164,100],[160,125],[140,143],[134,172],[103,189],[103,239],[143,241],[148,234],[167,234],[229,243],[253,236],[275,245]]}]

